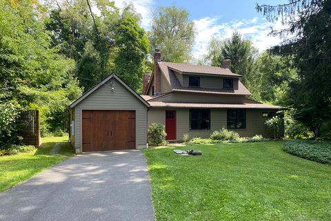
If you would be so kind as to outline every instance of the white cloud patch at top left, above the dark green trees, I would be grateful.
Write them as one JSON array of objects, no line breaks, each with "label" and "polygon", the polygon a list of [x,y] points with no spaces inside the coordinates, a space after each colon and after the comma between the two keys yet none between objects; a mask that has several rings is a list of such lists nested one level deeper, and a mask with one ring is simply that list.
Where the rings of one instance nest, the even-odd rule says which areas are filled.
[{"label": "white cloud patch at top left, above the dark green trees", "polygon": [[141,14],[141,26],[148,30],[150,28],[150,20],[152,19],[152,6],[154,6],[154,0],[114,0],[115,6],[123,8],[125,3],[132,3],[134,8],[139,14]]}]

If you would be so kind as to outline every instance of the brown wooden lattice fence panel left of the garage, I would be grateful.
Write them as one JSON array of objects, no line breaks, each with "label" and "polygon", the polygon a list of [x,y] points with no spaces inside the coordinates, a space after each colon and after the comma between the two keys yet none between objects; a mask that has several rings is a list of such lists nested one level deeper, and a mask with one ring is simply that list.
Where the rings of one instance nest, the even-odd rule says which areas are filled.
[{"label": "brown wooden lattice fence panel left of the garage", "polygon": [[39,111],[22,111],[19,121],[23,144],[39,147],[41,144]]}]

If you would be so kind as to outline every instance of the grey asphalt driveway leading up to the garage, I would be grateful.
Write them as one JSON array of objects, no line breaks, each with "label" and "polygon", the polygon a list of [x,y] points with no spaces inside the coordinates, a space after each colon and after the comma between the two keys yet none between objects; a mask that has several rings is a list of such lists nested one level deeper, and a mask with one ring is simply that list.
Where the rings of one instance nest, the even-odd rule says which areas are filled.
[{"label": "grey asphalt driveway leading up to the garage", "polygon": [[154,220],[145,157],[72,157],[0,193],[0,220]]}]

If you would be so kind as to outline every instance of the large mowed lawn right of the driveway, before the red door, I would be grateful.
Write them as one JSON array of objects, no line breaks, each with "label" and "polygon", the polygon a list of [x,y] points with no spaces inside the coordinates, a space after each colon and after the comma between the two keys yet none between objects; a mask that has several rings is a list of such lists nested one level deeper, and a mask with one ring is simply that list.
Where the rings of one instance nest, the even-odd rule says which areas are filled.
[{"label": "large mowed lawn right of the driveway, before the red door", "polygon": [[[145,150],[157,220],[331,220],[331,166],[283,142]],[[173,149],[199,149],[180,156]]]}]

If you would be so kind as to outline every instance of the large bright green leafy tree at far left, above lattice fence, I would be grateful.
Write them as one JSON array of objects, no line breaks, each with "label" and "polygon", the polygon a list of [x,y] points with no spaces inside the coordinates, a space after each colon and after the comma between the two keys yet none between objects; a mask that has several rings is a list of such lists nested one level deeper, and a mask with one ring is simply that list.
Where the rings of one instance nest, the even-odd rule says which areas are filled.
[{"label": "large bright green leafy tree at far left, above lattice fence", "polygon": [[0,1],[0,7],[1,112],[10,111],[4,104],[37,108],[42,133],[47,133],[50,119],[65,113],[68,103],[81,94],[73,77],[74,62],[51,47],[46,8],[37,1]]}]

